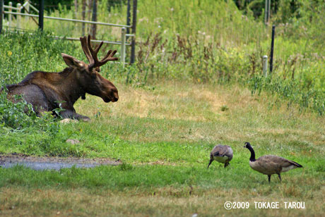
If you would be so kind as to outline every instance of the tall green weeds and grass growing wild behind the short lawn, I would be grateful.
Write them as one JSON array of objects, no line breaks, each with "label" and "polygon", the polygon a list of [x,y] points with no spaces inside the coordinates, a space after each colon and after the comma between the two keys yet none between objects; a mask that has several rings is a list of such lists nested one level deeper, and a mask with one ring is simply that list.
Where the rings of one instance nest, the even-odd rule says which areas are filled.
[{"label": "tall green weeds and grass growing wild behind the short lawn", "polygon": [[[323,114],[325,50],[321,27],[324,27],[325,8],[322,5],[314,7],[314,2],[305,0],[297,1],[297,5],[298,10],[289,16],[288,4],[281,1],[278,13],[273,16],[276,42],[271,83],[275,86],[265,83],[269,79],[261,77],[261,57],[270,53],[271,24],[264,25],[262,16],[254,18],[249,8],[244,15],[233,1],[139,1],[136,65],[119,68],[120,72],[110,68],[111,73],[107,76],[141,86],[162,79],[239,82],[251,87],[252,92],[278,93],[302,107],[310,107]],[[59,6],[57,11],[48,15],[81,19],[81,1],[78,1],[77,9],[78,13],[76,8],[67,10]],[[124,24],[125,15],[126,5],[108,10],[107,1],[100,1],[98,20]],[[86,18],[90,18],[90,13],[86,14]],[[82,28],[80,24],[60,22],[58,25],[57,21],[47,20],[45,29],[54,35],[79,37]],[[89,30],[90,26],[86,25],[85,33]],[[119,36],[119,28],[98,27],[99,39],[119,40]],[[28,50],[33,51],[32,46],[38,46],[37,43],[30,43]],[[61,63],[58,54],[66,49],[69,49],[66,52],[83,58],[76,44],[64,46],[59,42],[53,46],[56,50],[49,51],[49,57],[57,55],[54,63]],[[110,46],[110,49],[119,47]],[[6,51],[11,54],[8,47]],[[16,61],[20,57],[11,58]],[[22,64],[15,66],[25,67]],[[20,70],[14,68],[13,72]]]}]

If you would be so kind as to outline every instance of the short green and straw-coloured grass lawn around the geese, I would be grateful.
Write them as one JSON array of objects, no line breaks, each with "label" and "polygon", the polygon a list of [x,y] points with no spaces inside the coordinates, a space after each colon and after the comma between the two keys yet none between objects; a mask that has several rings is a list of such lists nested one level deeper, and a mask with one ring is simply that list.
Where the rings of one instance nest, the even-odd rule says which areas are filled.
[{"label": "short green and straw-coloured grass lawn around the geese", "polygon": [[[0,216],[323,216],[325,117],[301,111],[278,96],[252,95],[236,85],[161,82],[138,88],[117,84],[119,101],[86,96],[76,110],[89,123],[1,135],[0,152],[120,159],[119,166],[32,171],[0,169]],[[66,139],[81,141],[68,144]],[[275,154],[302,164],[283,181],[249,167]],[[228,168],[213,162],[215,144],[228,144]],[[224,208],[249,202],[248,209]],[[255,209],[278,202],[279,209]],[[284,202],[305,202],[285,209]]]}]

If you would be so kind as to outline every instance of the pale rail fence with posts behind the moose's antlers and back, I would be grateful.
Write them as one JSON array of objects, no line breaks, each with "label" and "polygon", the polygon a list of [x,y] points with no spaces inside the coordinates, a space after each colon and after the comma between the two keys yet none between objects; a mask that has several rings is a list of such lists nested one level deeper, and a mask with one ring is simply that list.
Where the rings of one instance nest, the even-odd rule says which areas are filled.
[{"label": "pale rail fence with posts behind the moose's antlers and back", "polygon": [[[121,41],[120,42],[113,42],[113,41],[100,41],[100,40],[95,40],[92,39],[91,42],[104,42],[105,44],[119,44],[121,45],[121,58],[120,61],[121,63],[125,63],[125,56],[126,56],[126,46],[131,46],[131,56],[130,56],[130,63],[134,63],[134,56],[135,56],[135,32],[136,32],[136,5],[137,5],[137,0],[133,0],[133,20],[132,20],[132,25],[130,25],[130,0],[128,0],[127,4],[127,16],[126,16],[126,25],[120,25],[120,24],[114,24],[114,23],[101,23],[101,22],[95,22],[95,21],[89,21],[89,20],[77,20],[77,19],[69,19],[69,18],[57,18],[57,17],[50,17],[50,16],[44,16],[44,0],[40,0],[40,10],[32,6],[30,4],[30,1],[25,1],[23,5],[17,4],[16,7],[12,6],[12,3],[9,2],[8,6],[4,6],[4,1],[0,0],[0,34],[2,32],[3,28],[3,20],[4,20],[4,14],[8,14],[8,27],[13,27],[12,25],[12,15],[17,16],[17,22],[16,22],[16,28],[20,28],[20,19],[21,16],[25,16],[25,18],[28,17],[34,17],[38,18],[39,22],[39,28],[40,30],[43,30],[43,19],[52,19],[52,20],[62,20],[62,21],[68,21],[68,22],[74,22],[74,23],[88,23],[88,24],[95,24],[95,25],[104,25],[104,26],[110,26],[110,27],[120,27],[121,28]],[[8,11],[4,11],[4,9],[7,9]],[[21,13],[22,9],[25,9],[25,13]],[[39,13],[38,15],[31,14],[30,9],[33,11]],[[16,12],[13,12],[16,11]],[[129,29],[131,28],[132,34],[129,34]],[[126,42],[127,37],[132,37],[131,42],[128,43]],[[68,39],[68,40],[80,40],[78,38],[73,38],[73,37],[55,37],[56,39]]]}]

